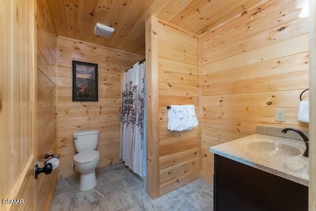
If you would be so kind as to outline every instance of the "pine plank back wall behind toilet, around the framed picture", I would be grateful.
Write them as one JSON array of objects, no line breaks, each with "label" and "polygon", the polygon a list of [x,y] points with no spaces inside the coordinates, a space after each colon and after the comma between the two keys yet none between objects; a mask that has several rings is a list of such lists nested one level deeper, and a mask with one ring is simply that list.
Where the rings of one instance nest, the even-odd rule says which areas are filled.
[{"label": "pine plank back wall behind toilet, around the framed picture", "polygon": [[[73,133],[98,129],[98,168],[119,160],[119,109],[121,73],[144,56],[101,45],[58,37],[58,178],[78,173],[73,169],[76,154]],[[98,64],[98,102],[72,102],[72,61]]]}]

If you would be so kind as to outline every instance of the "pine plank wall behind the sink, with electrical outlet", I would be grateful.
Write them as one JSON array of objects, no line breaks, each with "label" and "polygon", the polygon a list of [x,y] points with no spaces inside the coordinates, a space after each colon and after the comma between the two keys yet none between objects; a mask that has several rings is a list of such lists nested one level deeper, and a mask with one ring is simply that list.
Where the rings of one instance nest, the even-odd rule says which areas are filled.
[{"label": "pine plank wall behind the sink, with electrical outlet", "polygon": [[[294,3],[268,1],[201,37],[201,170],[210,181],[210,146],[253,134],[257,125],[308,128],[296,119],[308,88],[308,24]],[[286,110],[286,122],[275,122],[276,109]]]}]

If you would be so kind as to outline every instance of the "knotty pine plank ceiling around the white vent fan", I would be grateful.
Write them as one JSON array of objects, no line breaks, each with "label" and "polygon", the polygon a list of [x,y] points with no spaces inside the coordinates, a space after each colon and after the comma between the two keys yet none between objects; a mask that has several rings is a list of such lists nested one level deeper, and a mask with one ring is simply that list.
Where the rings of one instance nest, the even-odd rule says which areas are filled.
[{"label": "knotty pine plank ceiling around the white vent fan", "polygon": [[[267,0],[48,0],[57,35],[145,55],[150,15],[201,35],[246,8]],[[115,29],[94,35],[96,23]]]}]

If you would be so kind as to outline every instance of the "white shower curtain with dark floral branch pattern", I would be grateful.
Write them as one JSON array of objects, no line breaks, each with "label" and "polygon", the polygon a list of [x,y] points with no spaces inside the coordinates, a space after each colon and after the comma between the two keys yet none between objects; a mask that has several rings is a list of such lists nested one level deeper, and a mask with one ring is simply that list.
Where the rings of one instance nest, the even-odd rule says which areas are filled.
[{"label": "white shower curtain with dark floral branch pattern", "polygon": [[124,72],[119,156],[125,165],[146,176],[145,62]]}]

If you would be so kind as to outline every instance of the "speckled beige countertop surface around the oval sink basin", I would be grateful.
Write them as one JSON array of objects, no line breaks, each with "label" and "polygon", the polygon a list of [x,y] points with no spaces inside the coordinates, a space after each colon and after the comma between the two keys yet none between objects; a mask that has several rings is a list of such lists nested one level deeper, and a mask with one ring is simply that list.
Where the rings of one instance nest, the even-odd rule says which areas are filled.
[{"label": "speckled beige countertop surface around the oval sink basin", "polygon": [[[256,141],[287,144],[298,148],[301,152],[297,156],[287,156],[282,155],[282,153],[269,154],[266,152],[254,151],[249,146],[250,143]],[[247,166],[261,169],[285,179],[308,186],[309,159],[303,157],[305,144],[302,140],[264,134],[253,134],[210,147],[209,151]]]}]

